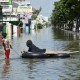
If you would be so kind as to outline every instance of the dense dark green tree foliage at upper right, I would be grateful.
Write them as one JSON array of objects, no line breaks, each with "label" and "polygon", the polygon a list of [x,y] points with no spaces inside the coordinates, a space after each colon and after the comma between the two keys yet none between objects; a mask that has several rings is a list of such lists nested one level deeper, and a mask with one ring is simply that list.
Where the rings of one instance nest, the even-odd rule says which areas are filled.
[{"label": "dense dark green tree foliage at upper right", "polygon": [[80,0],[60,0],[54,3],[54,10],[51,15],[53,25],[63,25],[80,19]]}]

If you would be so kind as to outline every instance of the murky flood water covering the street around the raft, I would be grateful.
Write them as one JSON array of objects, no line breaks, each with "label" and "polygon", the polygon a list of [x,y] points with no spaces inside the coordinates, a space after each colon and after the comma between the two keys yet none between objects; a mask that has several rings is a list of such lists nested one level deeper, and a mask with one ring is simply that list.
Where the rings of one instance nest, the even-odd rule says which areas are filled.
[{"label": "murky flood water covering the street around the raft", "polygon": [[26,41],[31,39],[39,48],[50,50],[80,50],[79,36],[51,27],[31,30],[13,37],[10,61],[5,61],[0,45],[0,80],[80,80],[80,53],[70,58],[22,59],[22,50],[27,50]]}]

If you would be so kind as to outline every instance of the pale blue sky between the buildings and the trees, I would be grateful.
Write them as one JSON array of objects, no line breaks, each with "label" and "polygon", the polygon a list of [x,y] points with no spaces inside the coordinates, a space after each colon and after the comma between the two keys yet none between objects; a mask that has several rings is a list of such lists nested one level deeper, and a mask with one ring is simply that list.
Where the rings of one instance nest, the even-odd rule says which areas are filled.
[{"label": "pale blue sky between the buildings and the trees", "polygon": [[54,9],[54,2],[59,1],[59,0],[30,0],[31,5],[39,9],[40,7],[42,8],[42,11],[40,14],[50,17],[52,10]]}]

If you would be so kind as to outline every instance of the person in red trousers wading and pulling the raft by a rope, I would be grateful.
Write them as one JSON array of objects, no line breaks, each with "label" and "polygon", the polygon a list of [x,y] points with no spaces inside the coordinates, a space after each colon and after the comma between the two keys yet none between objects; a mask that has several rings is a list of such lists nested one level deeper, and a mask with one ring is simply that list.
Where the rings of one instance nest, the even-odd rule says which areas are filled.
[{"label": "person in red trousers wading and pulling the raft by a rope", "polygon": [[9,59],[10,56],[10,48],[12,49],[12,46],[9,42],[9,40],[6,39],[6,34],[2,35],[2,41],[1,41],[4,51],[5,51],[5,59]]}]

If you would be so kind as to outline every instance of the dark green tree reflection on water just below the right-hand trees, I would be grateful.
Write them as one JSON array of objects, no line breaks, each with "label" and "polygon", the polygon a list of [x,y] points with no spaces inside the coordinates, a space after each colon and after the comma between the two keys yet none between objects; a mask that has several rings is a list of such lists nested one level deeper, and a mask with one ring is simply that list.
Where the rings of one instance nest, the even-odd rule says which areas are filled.
[{"label": "dark green tree reflection on water just below the right-hand trees", "polygon": [[71,34],[71,33],[68,33],[67,31],[61,31],[60,29],[52,29],[54,34],[53,34],[53,37],[55,39],[61,39],[61,40],[79,40],[79,37],[80,36],[77,36],[76,34]]}]

